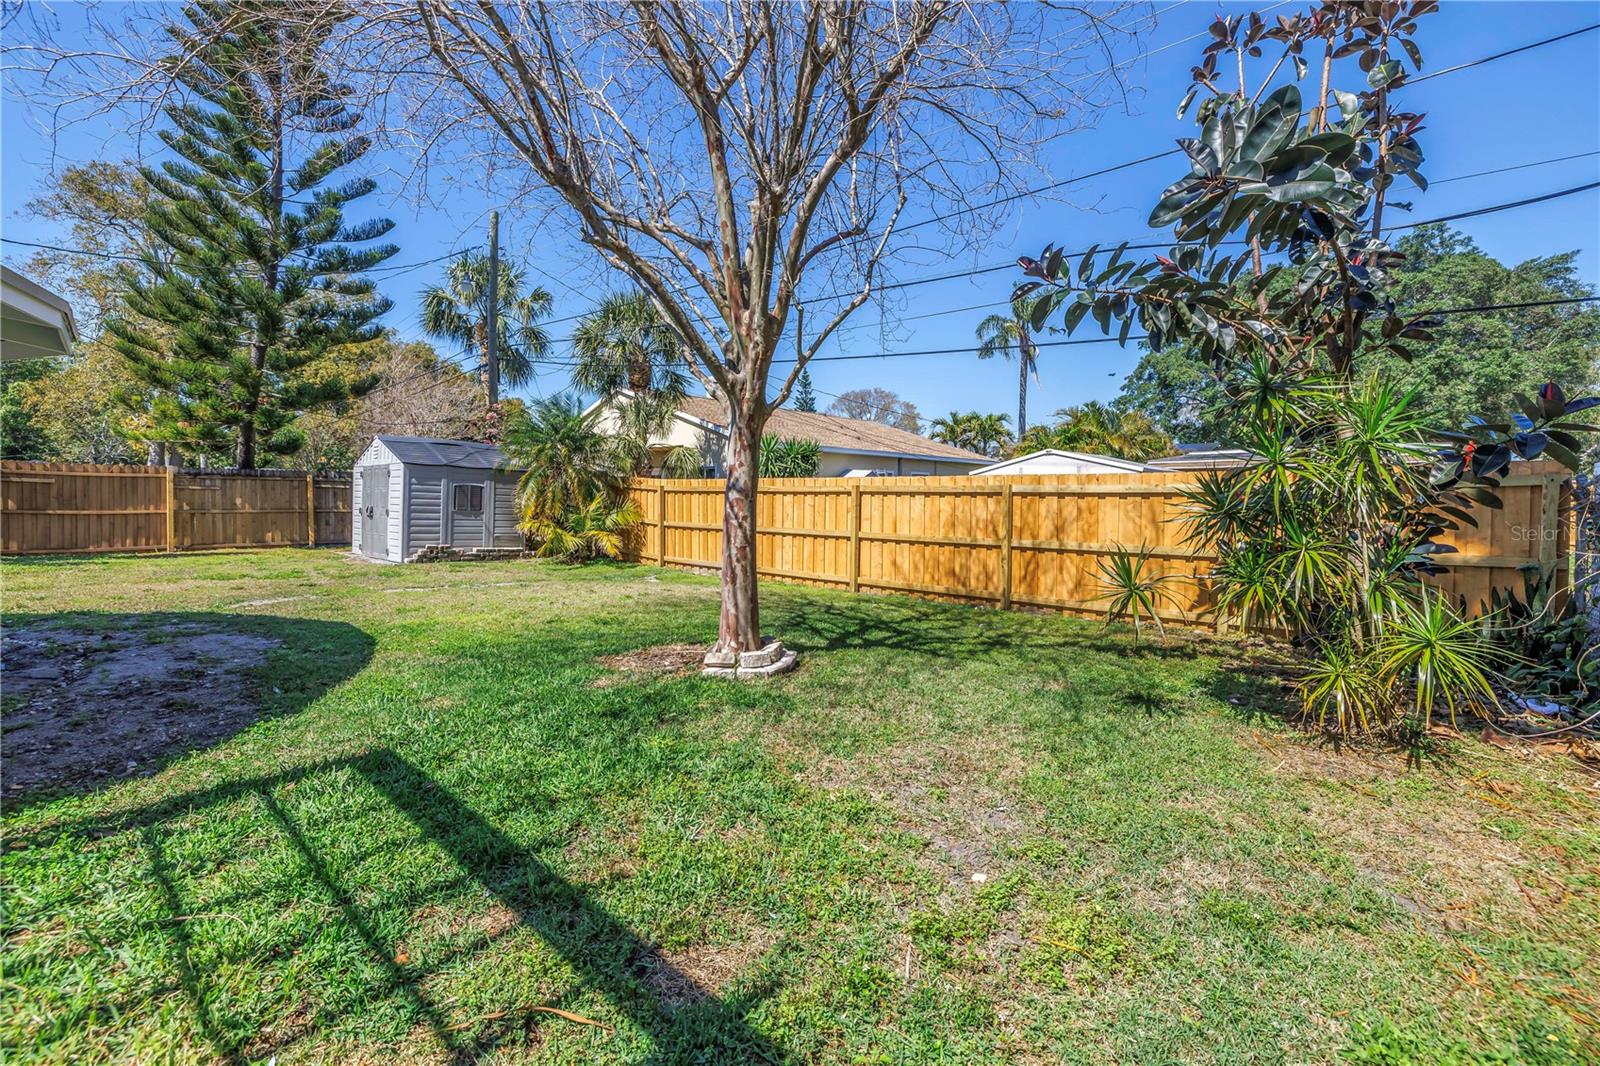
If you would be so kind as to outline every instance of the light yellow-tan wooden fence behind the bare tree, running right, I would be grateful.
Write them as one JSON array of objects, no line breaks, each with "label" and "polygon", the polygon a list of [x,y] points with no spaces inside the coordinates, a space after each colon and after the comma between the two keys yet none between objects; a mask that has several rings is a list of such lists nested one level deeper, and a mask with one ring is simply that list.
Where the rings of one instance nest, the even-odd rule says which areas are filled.
[{"label": "light yellow-tan wooden fence behind the bare tree, running right", "polygon": [[[1163,618],[1211,618],[1205,573],[1214,555],[1182,543],[1179,491],[1195,474],[1022,477],[771,479],[755,501],[757,573],[858,591],[910,592],[997,607],[1104,611],[1098,560],[1118,547],[1150,552],[1173,575]],[[1450,541],[1438,586],[1477,608],[1491,587],[1523,584],[1526,563],[1570,578],[1570,482],[1555,463],[1520,463],[1504,507]],[[722,565],[722,480],[638,480],[643,517],[627,557],[667,567]]]}]

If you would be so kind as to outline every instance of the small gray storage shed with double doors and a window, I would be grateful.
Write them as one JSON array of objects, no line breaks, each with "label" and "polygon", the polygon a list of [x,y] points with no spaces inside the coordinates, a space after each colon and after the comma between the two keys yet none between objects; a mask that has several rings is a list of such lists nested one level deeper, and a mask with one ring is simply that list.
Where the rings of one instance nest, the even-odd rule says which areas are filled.
[{"label": "small gray storage shed with double doors and a window", "polygon": [[373,437],[355,461],[352,544],[406,562],[426,547],[522,547],[517,479],[506,455],[475,440]]}]

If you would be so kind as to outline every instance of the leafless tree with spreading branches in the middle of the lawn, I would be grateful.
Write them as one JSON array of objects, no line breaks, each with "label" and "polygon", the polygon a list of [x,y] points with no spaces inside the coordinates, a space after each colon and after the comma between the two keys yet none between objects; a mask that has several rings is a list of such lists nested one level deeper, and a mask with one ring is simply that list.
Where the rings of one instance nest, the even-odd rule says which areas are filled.
[{"label": "leafless tree with spreading branches in the middle of the lawn", "polygon": [[[344,10],[342,69],[366,78],[368,114],[453,173],[482,160],[520,210],[558,208],[648,293],[726,407],[718,659],[762,643],[768,415],[923,224],[989,232],[1038,173],[1040,144],[1093,122],[1102,90],[1120,86],[1112,48],[1149,21],[1118,26],[1115,3],[970,0]],[[45,48],[38,62],[61,58]],[[123,98],[165,91],[150,85],[134,80]],[[915,235],[902,230],[912,203]],[[806,336],[790,339],[797,359],[773,383],[802,303]]]}]

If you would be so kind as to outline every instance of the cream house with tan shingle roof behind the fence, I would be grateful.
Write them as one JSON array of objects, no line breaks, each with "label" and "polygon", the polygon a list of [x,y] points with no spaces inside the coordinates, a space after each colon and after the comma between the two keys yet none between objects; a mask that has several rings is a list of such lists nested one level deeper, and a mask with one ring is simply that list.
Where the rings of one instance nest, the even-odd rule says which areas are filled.
[{"label": "cream house with tan shingle roof behind the fence", "polygon": [[[626,395],[626,394],[624,394]],[[616,416],[605,400],[590,405],[600,411],[600,431],[616,429]],[[928,440],[920,434],[882,423],[814,411],[779,408],[766,419],[765,432],[790,440],[813,440],[821,453],[818,477],[909,477],[917,474],[952,477],[970,474],[994,463],[992,458]],[[701,472],[706,477],[722,477],[723,445],[728,439],[728,416],[722,402],[709,395],[685,397],[678,413],[666,432],[650,442],[650,451],[659,461],[672,448],[694,448],[702,456]]]}]

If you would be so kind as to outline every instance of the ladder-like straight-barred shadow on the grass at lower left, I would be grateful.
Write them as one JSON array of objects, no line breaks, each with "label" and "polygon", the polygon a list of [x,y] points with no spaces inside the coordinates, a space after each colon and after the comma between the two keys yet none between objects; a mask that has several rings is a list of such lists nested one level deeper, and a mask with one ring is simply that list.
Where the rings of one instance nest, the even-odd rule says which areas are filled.
[{"label": "ladder-like straight-barred shadow on the grass at lower left", "polygon": [[[434,1039],[456,1063],[474,1063],[515,1040],[528,1026],[552,1021],[539,1008],[562,1010],[562,996],[542,1004],[507,1004],[506,1010],[467,1023],[451,1023],[442,1004],[427,991],[430,970],[400,960],[398,944],[387,941],[358,890],[341,884],[310,834],[282,802],[288,789],[318,776],[357,773],[416,834],[437,845],[448,861],[509,908],[520,925],[533,930],[578,975],[570,991],[592,989],[642,1029],[651,1042],[648,1063],[781,1063],[787,1056],[747,1021],[770,984],[757,984],[739,997],[718,999],[690,975],[670,965],[654,944],[619,922],[592,893],[550,869],[533,847],[518,844],[462,804],[451,791],[387,747],[346,759],[331,759],[278,775],[234,781],[214,789],[174,795],[160,804],[70,823],[56,823],[30,834],[13,836],[13,847],[46,847],[62,834],[99,839],[134,834],[146,855],[157,895],[168,911],[163,928],[173,954],[178,983],[190,1002],[206,1042],[219,1060],[254,1061],[286,1048],[304,1032],[272,1039],[230,1031],[213,1012],[210,975],[194,964],[195,944],[186,930],[176,864],[163,845],[163,823],[221,808],[253,795],[270,824],[288,840],[314,895],[334,908],[376,962],[390,994],[410,1002]],[[451,871],[454,872],[454,871]],[[670,999],[656,989],[670,989]],[[570,1023],[557,1023],[570,1024]],[[573,1023],[574,1024],[574,1023]],[[235,1028],[237,1029],[237,1028]]]}]

